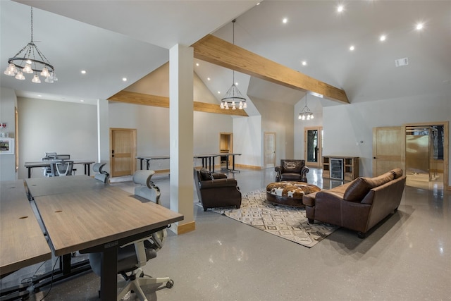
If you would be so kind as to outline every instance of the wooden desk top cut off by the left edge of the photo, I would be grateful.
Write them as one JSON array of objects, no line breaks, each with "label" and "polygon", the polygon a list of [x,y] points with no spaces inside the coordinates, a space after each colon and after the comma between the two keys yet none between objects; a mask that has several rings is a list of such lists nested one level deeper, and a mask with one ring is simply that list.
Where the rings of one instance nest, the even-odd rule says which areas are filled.
[{"label": "wooden desk top cut off by the left edge of the photo", "polygon": [[23,180],[0,182],[0,275],[51,259]]}]

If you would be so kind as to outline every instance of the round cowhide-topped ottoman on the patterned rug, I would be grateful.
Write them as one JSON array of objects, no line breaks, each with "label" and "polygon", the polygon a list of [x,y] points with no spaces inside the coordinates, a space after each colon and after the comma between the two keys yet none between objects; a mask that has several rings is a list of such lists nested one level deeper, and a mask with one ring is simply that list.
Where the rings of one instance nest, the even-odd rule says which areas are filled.
[{"label": "round cowhide-topped ottoman on the patterned rug", "polygon": [[302,197],[321,190],[316,185],[304,182],[275,182],[266,186],[266,199],[273,204],[304,207]]}]

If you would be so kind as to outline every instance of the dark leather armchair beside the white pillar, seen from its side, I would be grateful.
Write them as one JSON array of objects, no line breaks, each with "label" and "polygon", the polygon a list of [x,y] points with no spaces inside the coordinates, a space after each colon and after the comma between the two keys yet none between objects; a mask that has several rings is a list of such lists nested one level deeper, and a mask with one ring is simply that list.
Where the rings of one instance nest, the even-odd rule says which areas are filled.
[{"label": "dark leather armchair beside the white pillar, seen from its side", "polygon": [[211,173],[206,168],[194,168],[194,185],[204,211],[209,208],[241,207],[241,192],[235,178],[226,173]]}]

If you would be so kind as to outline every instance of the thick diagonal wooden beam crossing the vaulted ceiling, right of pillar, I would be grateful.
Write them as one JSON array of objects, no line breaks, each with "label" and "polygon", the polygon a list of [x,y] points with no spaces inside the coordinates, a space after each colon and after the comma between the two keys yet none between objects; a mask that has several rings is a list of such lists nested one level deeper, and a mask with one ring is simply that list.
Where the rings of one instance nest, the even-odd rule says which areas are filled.
[{"label": "thick diagonal wooden beam crossing the vaulted ceiling, right of pillar", "polygon": [[263,56],[254,54],[214,35],[206,35],[192,44],[192,47],[194,48],[195,59],[237,70],[295,90],[315,92],[323,95],[324,98],[342,104],[350,103],[344,90],[265,59]]}]

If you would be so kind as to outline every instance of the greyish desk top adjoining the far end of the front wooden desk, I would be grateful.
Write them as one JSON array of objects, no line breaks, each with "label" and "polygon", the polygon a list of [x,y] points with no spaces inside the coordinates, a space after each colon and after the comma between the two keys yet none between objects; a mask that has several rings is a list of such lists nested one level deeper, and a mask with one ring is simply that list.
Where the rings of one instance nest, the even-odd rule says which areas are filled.
[{"label": "greyish desk top adjoining the far end of the front wooden desk", "polygon": [[32,197],[43,195],[58,195],[67,192],[79,192],[83,190],[101,190],[107,183],[95,180],[86,175],[50,177],[50,178],[29,178],[26,179],[28,191]]}]

